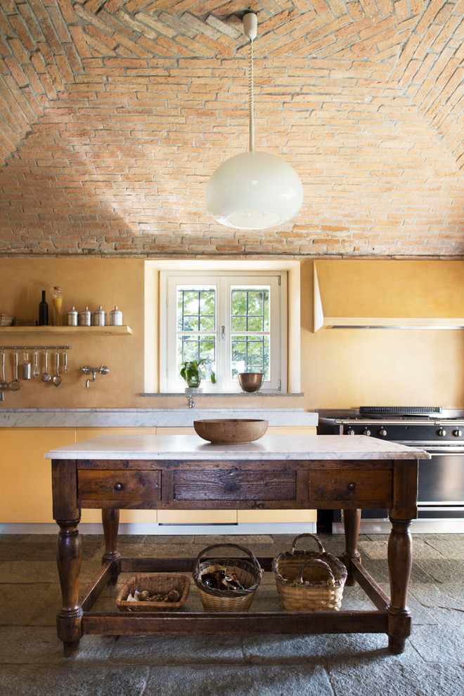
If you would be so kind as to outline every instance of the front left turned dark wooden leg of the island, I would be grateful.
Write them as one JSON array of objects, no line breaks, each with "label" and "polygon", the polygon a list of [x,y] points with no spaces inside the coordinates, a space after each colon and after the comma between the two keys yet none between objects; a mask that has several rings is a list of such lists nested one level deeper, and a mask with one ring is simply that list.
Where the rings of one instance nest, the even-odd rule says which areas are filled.
[{"label": "front left turned dark wooden leg of the island", "polygon": [[81,539],[77,520],[56,520],[58,534],[58,575],[60,576],[63,607],[58,613],[58,638],[63,640],[65,657],[79,653],[82,636],[82,609],[79,606],[79,575],[81,571]]}]

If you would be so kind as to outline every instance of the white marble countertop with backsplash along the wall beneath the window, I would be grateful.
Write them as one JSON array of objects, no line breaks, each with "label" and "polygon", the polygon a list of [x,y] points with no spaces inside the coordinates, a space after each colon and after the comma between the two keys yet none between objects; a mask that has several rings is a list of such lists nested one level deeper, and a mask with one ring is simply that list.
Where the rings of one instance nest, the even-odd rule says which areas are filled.
[{"label": "white marble countertop with backsplash along the wall beneath the window", "polygon": [[201,418],[259,418],[269,425],[317,425],[297,408],[18,408],[0,410],[0,427],[189,426]]}]

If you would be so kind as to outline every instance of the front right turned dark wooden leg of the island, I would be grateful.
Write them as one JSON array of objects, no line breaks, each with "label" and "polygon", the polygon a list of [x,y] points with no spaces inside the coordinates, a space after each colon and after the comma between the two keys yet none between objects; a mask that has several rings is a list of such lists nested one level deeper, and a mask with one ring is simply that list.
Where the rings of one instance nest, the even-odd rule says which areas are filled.
[{"label": "front right turned dark wooden leg of the island", "polygon": [[390,652],[404,652],[406,638],[411,633],[411,612],[406,606],[408,585],[413,565],[413,543],[409,534],[411,520],[392,520],[388,540],[388,571],[390,603],[388,613],[388,647]]}]

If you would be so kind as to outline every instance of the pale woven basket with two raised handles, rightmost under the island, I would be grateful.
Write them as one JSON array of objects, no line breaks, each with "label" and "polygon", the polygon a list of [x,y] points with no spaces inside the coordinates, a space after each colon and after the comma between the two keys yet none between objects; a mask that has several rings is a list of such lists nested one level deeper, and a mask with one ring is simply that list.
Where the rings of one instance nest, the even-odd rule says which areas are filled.
[{"label": "pale woven basket with two raised handles, rightmost under the island", "polygon": [[[296,550],[298,539],[316,539],[317,551]],[[281,609],[287,612],[339,610],[342,605],[347,569],[327,553],[314,534],[299,534],[289,551],[279,553],[272,562]]]}]

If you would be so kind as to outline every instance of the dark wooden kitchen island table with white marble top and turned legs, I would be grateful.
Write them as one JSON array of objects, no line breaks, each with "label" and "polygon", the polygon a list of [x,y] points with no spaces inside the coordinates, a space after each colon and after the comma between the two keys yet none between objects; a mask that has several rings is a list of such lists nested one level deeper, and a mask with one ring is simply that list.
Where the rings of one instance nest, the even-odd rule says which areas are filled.
[{"label": "dark wooden kitchen island table with white marble top and turned legs", "polygon": [[[417,516],[418,459],[423,450],[365,436],[265,435],[257,442],[212,445],[196,435],[101,436],[46,453],[52,460],[53,517],[59,525],[58,574],[63,607],[58,637],[66,657],[86,633],[387,633],[404,651],[411,575],[409,525]],[[101,508],[105,554],[79,601],[81,508]],[[367,593],[372,611],[153,612],[92,611],[98,595],[127,572],[191,572],[194,558],[122,558],[120,508],[322,508],[344,510],[348,584]],[[387,508],[390,598],[363,569],[357,549],[360,510]],[[271,558],[259,558],[265,571]]]}]

